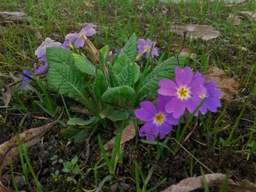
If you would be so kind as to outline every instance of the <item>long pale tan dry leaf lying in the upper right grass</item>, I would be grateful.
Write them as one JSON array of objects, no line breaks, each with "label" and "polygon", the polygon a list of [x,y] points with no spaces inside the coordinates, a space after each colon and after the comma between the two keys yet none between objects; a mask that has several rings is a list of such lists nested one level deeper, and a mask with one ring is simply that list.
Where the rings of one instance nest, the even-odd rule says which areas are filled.
[{"label": "long pale tan dry leaf lying in the upper right grass", "polygon": [[183,35],[184,31],[186,31],[187,37],[196,37],[206,41],[219,37],[219,31],[215,30],[211,26],[201,26],[197,24],[187,26],[170,26],[170,31],[181,35]]}]

